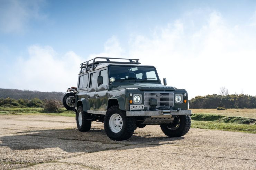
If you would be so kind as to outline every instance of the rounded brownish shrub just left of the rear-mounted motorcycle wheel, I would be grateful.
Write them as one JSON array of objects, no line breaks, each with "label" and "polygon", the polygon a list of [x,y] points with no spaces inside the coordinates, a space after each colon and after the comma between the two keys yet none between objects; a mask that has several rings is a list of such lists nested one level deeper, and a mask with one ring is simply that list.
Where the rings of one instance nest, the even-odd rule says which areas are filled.
[{"label": "rounded brownish shrub just left of the rear-mounted motorcycle wheel", "polygon": [[47,113],[60,113],[62,103],[59,100],[44,100],[44,110]]}]

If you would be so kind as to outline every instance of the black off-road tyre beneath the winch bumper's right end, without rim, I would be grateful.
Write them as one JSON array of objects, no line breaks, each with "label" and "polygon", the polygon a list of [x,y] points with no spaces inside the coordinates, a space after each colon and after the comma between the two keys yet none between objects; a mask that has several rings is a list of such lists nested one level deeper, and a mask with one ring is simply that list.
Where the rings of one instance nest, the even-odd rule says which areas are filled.
[{"label": "black off-road tyre beneath the winch bumper's right end, without rim", "polygon": [[[188,133],[191,126],[191,118],[189,115],[177,115],[180,119],[180,125],[175,130],[171,130],[170,124],[161,124],[160,127],[165,135],[169,137],[181,137]],[[168,127],[169,126],[169,127]]]}]

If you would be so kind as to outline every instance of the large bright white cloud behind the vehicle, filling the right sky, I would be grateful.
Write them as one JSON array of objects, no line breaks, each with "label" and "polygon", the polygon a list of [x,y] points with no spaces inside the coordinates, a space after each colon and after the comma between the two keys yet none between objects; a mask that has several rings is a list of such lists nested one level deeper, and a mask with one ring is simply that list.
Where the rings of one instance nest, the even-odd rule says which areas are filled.
[{"label": "large bright white cloud behind the vehicle, filling the right sky", "polygon": [[[191,15],[191,14],[190,14]],[[185,88],[189,97],[219,93],[226,86],[231,93],[256,95],[256,41],[254,32],[238,25],[228,26],[219,12],[211,12],[205,24],[186,18],[157,27],[152,36],[132,35],[129,46],[122,48],[117,38],[114,45],[92,56],[139,58],[142,64],[154,65],[168,85]],[[191,25],[198,24],[198,25]],[[201,23],[201,22],[200,22]],[[194,31],[190,28],[197,26]],[[253,38],[254,37],[254,38]],[[108,42],[107,41],[107,42]]]}]

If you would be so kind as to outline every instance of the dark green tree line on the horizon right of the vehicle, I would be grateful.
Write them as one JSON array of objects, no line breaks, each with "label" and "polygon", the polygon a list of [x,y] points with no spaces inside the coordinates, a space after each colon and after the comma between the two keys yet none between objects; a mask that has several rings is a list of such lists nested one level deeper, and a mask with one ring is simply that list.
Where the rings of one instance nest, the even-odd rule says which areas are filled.
[{"label": "dark green tree line on the horizon right of the vehicle", "polygon": [[196,96],[189,100],[190,108],[255,108],[256,96],[244,94]]}]

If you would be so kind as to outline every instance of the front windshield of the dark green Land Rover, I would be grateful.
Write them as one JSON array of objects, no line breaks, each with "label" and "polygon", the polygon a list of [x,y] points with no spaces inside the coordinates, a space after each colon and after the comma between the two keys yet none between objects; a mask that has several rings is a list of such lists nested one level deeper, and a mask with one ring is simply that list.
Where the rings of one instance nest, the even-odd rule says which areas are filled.
[{"label": "front windshield of the dark green Land Rover", "polygon": [[114,77],[116,81],[124,80],[150,80],[158,81],[156,69],[154,67],[144,66],[110,66],[109,76]]}]

